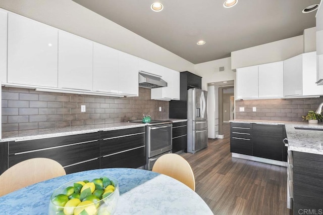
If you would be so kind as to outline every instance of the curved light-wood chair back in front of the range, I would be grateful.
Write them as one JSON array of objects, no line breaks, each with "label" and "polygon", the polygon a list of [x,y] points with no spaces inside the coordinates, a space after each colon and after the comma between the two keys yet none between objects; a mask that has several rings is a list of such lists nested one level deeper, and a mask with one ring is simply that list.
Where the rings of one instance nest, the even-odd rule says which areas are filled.
[{"label": "curved light-wood chair back in front of the range", "polygon": [[168,153],[160,156],[153,165],[152,172],[170,176],[195,191],[194,173],[181,155]]}]

